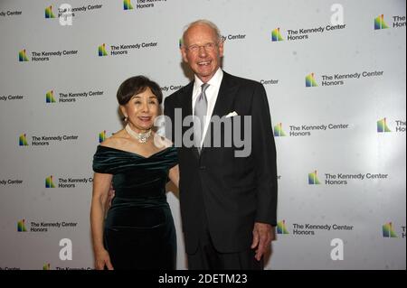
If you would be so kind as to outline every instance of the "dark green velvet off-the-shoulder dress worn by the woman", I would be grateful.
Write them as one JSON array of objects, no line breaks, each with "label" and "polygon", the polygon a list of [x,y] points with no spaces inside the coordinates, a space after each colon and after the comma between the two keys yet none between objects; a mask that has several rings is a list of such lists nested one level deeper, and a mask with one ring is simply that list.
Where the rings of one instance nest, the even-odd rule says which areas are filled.
[{"label": "dark green velvet off-the-shoulder dress worn by the woman", "polygon": [[98,146],[93,171],[113,174],[115,189],[104,228],[114,269],[175,269],[175,227],[166,182],[177,161],[175,147],[146,158]]}]

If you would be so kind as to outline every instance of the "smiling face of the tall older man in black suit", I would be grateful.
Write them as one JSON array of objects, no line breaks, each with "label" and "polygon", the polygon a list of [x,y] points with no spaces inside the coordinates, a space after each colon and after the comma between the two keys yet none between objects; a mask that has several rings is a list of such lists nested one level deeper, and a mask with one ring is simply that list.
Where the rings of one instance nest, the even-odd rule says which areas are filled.
[{"label": "smiling face of the tall older man in black suit", "polygon": [[190,27],[185,33],[184,41],[181,52],[185,62],[199,79],[204,83],[208,82],[221,65],[223,42],[205,24]]}]

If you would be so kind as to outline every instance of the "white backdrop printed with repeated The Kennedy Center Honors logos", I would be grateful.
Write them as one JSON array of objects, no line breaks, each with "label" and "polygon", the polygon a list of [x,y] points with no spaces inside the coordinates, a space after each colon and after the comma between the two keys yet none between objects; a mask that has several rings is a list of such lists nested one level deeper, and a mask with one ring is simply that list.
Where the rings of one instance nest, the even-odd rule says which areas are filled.
[{"label": "white backdrop printed with repeated The Kennedy Center Honors logos", "polygon": [[[266,269],[406,268],[405,0],[0,1],[0,269],[92,269],[92,156],[135,75],[189,82],[184,27],[267,90],[279,168]],[[179,200],[177,268],[186,269]]]}]

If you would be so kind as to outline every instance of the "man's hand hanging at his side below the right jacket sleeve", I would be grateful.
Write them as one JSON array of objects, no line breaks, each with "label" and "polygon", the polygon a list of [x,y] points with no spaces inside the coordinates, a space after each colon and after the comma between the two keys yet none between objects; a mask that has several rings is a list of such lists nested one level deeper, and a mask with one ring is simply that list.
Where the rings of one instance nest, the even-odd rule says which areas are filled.
[{"label": "man's hand hanging at his side below the right jacket sleeve", "polygon": [[259,222],[254,223],[251,249],[257,247],[256,255],[254,256],[257,261],[260,261],[261,257],[270,249],[271,241],[275,238],[275,229],[271,227],[270,224]]}]

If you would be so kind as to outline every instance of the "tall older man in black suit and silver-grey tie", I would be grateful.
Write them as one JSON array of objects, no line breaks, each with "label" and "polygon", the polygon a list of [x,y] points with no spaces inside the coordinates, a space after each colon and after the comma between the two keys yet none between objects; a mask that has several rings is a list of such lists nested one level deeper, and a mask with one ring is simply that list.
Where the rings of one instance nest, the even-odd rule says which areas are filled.
[{"label": "tall older man in black suit and silver-grey tie", "polygon": [[[168,128],[173,135],[167,136],[175,145],[194,128],[195,144],[184,142],[178,147],[189,269],[263,269],[263,255],[275,238],[277,223],[276,149],[265,89],[222,71],[222,36],[209,21],[188,25],[181,53],[194,71],[194,81],[166,98],[165,115],[172,123]],[[183,119],[197,116],[202,125],[183,126],[182,135],[176,135],[181,129],[175,123],[176,113]],[[228,129],[225,125],[216,134],[208,116],[223,120],[232,116],[233,133],[244,130],[244,135],[248,129],[234,129],[238,125],[234,118],[251,116],[251,138],[246,139],[251,153],[238,157],[241,149],[236,144],[211,145],[208,138],[223,139]]]}]

